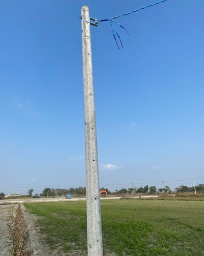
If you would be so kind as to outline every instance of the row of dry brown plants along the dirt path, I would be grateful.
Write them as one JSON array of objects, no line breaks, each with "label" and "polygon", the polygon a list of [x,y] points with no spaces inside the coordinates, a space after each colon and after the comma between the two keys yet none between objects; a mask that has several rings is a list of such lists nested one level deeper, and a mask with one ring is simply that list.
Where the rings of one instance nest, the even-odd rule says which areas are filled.
[{"label": "row of dry brown plants along the dirt path", "polygon": [[13,240],[13,248],[11,250],[11,255],[30,255],[30,252],[23,250],[23,247],[26,243],[28,231],[25,225],[22,205],[20,203],[17,205],[16,210],[14,212],[12,224],[10,225],[10,233]]}]

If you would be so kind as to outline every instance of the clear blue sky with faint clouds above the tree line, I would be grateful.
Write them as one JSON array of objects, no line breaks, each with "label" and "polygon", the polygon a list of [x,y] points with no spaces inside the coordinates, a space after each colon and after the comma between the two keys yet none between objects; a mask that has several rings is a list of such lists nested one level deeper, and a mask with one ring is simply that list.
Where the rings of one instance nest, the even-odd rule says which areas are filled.
[{"label": "clear blue sky with faint clouds above the tree line", "polygon": [[[155,2],[1,0],[0,191],[86,186],[81,7],[105,19]],[[120,50],[109,22],[91,27],[101,186],[204,183],[203,10],[120,17]]]}]

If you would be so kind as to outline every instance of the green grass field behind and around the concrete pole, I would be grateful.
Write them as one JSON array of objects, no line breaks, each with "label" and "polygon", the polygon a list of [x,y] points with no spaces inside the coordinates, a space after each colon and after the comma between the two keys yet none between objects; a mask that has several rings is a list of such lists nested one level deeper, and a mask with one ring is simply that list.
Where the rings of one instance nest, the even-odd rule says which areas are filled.
[{"label": "green grass field behind and around the concrete pole", "polygon": [[[85,201],[24,205],[50,251],[86,255]],[[101,218],[104,255],[204,255],[203,201],[102,200]]]}]

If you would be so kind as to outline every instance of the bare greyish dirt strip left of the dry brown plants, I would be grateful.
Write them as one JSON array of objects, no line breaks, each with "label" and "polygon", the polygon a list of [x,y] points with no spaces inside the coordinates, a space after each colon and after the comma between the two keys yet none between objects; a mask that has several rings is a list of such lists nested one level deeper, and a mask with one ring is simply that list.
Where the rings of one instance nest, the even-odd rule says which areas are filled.
[{"label": "bare greyish dirt strip left of the dry brown plants", "polygon": [[0,205],[0,255],[10,256],[12,242],[10,240],[11,236],[9,233],[8,224],[11,223],[10,214],[11,210],[15,208],[15,204],[3,204]]}]

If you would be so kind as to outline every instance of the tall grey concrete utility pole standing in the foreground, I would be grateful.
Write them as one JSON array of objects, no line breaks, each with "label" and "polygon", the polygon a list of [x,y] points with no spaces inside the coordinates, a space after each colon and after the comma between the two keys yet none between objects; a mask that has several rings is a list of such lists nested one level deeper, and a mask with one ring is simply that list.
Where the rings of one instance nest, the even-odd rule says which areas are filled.
[{"label": "tall grey concrete utility pole standing in the foreground", "polygon": [[87,245],[89,256],[102,256],[103,242],[100,217],[98,153],[89,8],[83,6],[81,14],[86,147]]}]

